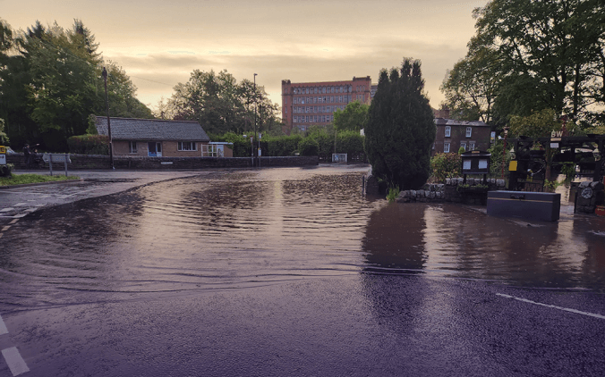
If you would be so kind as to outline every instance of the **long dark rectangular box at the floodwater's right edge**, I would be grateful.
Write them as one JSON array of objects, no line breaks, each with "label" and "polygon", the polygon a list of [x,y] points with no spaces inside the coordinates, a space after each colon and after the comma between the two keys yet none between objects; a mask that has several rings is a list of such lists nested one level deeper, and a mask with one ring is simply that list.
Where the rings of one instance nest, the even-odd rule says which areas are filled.
[{"label": "long dark rectangular box at the floodwater's right edge", "polygon": [[556,222],[560,210],[561,194],[527,191],[488,192],[488,214],[492,216]]}]

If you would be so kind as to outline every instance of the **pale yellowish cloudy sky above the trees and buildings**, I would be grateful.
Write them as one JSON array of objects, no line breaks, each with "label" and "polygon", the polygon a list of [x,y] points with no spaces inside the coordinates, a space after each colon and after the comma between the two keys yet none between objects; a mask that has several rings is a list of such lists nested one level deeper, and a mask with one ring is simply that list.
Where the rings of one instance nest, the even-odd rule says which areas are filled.
[{"label": "pale yellowish cloudy sky above the trees and buildings", "polygon": [[121,65],[138,97],[155,108],[191,72],[226,69],[264,86],[281,105],[281,80],[351,80],[422,61],[430,105],[464,57],[472,11],[487,0],[0,0],[13,29],[80,19],[99,51]]}]

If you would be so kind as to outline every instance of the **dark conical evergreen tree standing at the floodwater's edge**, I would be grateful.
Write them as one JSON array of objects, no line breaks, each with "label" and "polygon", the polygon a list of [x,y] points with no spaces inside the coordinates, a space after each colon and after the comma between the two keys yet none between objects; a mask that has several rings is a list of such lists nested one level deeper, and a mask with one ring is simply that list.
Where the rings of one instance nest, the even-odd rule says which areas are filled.
[{"label": "dark conical evergreen tree standing at the floodwater's edge", "polygon": [[401,70],[380,71],[365,149],[372,173],[390,188],[419,189],[430,176],[430,146],[437,128],[422,88],[420,61],[406,58]]}]

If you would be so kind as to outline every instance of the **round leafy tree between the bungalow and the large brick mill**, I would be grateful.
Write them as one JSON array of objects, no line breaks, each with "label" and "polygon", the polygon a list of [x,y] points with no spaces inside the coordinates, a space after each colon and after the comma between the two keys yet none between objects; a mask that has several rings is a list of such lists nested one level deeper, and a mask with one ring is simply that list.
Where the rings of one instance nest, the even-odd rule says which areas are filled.
[{"label": "round leafy tree between the bungalow and the large brick mill", "polygon": [[189,81],[178,83],[175,93],[159,104],[161,116],[175,120],[199,121],[211,133],[281,130],[278,105],[269,101],[265,88],[251,80],[239,83],[226,70],[192,71]]}]

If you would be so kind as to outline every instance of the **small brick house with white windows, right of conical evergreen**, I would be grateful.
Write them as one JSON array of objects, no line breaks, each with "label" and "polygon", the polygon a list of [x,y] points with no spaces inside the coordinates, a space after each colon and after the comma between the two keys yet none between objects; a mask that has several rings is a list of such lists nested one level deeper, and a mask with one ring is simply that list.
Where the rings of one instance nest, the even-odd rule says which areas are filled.
[{"label": "small brick house with white windows, right of conical evergreen", "polygon": [[437,136],[430,155],[436,153],[457,153],[464,150],[488,150],[490,147],[490,125],[483,121],[456,121],[455,119],[435,118]]}]

